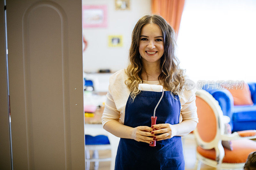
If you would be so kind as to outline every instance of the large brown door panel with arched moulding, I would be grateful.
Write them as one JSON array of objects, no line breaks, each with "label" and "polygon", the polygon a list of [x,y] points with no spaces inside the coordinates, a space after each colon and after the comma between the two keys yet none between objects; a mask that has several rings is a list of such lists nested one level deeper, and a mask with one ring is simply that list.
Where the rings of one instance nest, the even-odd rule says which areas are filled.
[{"label": "large brown door panel with arched moulding", "polygon": [[6,4],[14,169],[85,168],[81,5]]}]

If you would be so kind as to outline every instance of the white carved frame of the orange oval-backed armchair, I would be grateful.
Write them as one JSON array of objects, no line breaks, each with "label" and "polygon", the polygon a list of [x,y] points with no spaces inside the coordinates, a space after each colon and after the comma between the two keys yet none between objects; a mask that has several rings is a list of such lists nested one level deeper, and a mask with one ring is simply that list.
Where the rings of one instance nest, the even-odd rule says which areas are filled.
[{"label": "white carved frame of the orange oval-backed armchair", "polygon": [[[206,165],[215,167],[217,169],[243,169],[244,163],[236,164],[236,163],[222,163],[222,160],[225,156],[224,148],[221,144],[221,141],[229,141],[229,140],[240,140],[240,139],[253,139],[253,137],[240,137],[237,132],[232,134],[224,134],[225,123],[230,121],[228,116],[224,116],[223,112],[220,108],[219,102],[215,100],[212,95],[205,90],[197,90],[196,96],[203,99],[209,106],[212,108],[216,122],[217,122],[217,131],[216,136],[211,142],[204,142],[202,138],[199,136],[197,128],[194,130],[194,135],[196,137],[196,144],[202,147],[203,149],[215,149],[216,159],[207,159],[200,155],[196,151],[196,166],[195,169],[199,170],[201,163]],[[200,120],[199,120],[200,121]]]}]

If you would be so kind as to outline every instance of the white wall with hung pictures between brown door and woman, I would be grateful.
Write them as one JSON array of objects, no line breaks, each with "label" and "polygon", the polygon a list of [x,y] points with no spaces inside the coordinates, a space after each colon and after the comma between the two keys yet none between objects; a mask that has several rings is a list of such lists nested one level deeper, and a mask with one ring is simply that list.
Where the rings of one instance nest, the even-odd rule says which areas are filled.
[{"label": "white wall with hung pictures between brown door and woman", "polygon": [[[150,0],[131,0],[130,10],[116,11],[115,0],[83,0],[83,5],[108,5],[108,27],[83,29],[88,48],[83,53],[85,72],[126,68],[132,30],[137,21],[150,13]],[[123,35],[123,47],[108,47],[108,35]]]}]

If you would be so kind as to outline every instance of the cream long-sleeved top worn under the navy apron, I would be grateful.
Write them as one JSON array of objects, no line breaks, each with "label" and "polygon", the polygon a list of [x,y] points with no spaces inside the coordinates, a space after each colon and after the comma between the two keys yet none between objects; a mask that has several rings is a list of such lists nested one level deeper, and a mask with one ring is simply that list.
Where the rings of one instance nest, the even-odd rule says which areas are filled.
[{"label": "cream long-sleeved top worn under the navy apron", "polygon": [[[102,115],[102,125],[104,126],[111,120],[117,120],[124,124],[124,114],[126,102],[130,95],[130,90],[124,81],[128,78],[124,69],[119,70],[109,78],[109,86],[105,109]],[[187,77],[186,77],[187,78]],[[143,83],[151,85],[160,85],[159,81],[146,81]],[[166,91],[166,89],[164,89]],[[186,90],[179,95],[180,98],[180,122],[182,120],[193,120],[198,123],[196,113],[196,89]]]}]

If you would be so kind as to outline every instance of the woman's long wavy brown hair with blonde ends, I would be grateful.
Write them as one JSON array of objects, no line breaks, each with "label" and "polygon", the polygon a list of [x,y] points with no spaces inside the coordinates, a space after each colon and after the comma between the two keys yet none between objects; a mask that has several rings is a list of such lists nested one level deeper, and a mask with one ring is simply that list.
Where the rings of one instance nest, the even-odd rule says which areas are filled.
[{"label": "woman's long wavy brown hair with blonde ends", "polygon": [[[132,44],[129,50],[129,62],[126,69],[128,79],[125,80],[125,84],[131,91],[131,98],[134,101],[137,94],[140,93],[138,89],[139,84],[143,83],[142,61],[140,60],[140,33],[143,26],[146,24],[158,25],[163,33],[164,37],[164,54],[160,58],[160,70],[161,73],[158,76],[158,81],[164,86],[164,88],[171,92],[171,94],[178,95],[183,92],[185,86],[185,70],[180,69],[179,59],[176,56],[176,33],[174,29],[166,22],[164,18],[159,15],[145,15],[139,19],[132,31]],[[148,74],[146,72],[148,77]],[[162,81],[163,83],[161,83]]]}]

